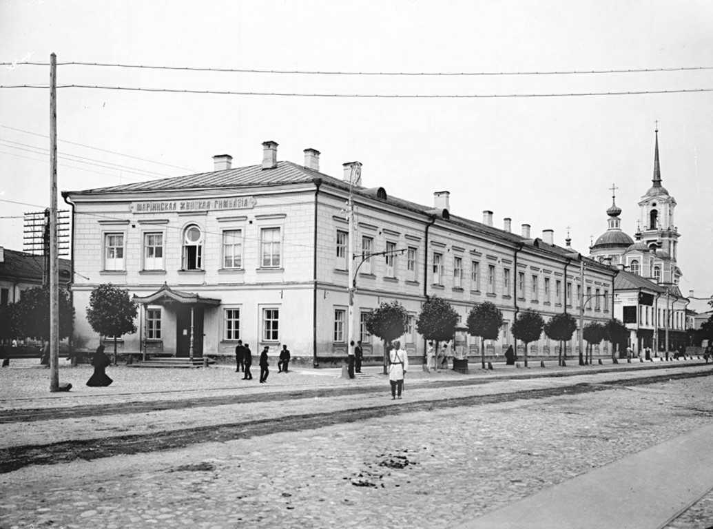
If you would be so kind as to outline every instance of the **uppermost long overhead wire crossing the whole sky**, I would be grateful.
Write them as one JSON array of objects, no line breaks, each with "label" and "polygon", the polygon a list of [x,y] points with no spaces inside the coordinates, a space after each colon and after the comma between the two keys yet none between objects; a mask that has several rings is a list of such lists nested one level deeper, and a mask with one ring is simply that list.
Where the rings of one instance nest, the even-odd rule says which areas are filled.
[{"label": "uppermost long overhead wire crossing the whole sky", "polygon": [[[28,65],[49,66],[42,62],[0,63],[4,66]],[[655,73],[677,71],[713,70],[713,66],[677,66],[674,68],[622,68],[611,70],[553,70],[553,71],[461,71],[461,72],[396,72],[396,71],[312,71],[312,70],[261,70],[256,68],[208,68],[200,66],[159,66],[150,64],[87,63],[67,61],[57,66],[100,66],[108,68],[142,68],[148,70],[201,71],[220,73],[278,73],[309,76],[565,76],[565,75],[600,75],[611,73]]]}]

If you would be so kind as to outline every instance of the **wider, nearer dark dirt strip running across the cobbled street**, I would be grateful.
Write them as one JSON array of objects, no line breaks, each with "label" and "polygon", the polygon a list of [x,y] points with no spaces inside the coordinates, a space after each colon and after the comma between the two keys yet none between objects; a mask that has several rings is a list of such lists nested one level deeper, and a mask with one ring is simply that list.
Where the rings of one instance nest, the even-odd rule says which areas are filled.
[{"label": "wider, nearer dark dirt strip running across the cobbled street", "polygon": [[[266,418],[258,421],[183,428],[150,434],[113,436],[83,441],[63,441],[46,445],[14,446],[0,451],[0,473],[16,471],[19,468],[30,465],[53,465],[76,460],[93,461],[98,458],[124,454],[131,455],[135,453],[168,451],[185,448],[198,443],[223,443],[237,439],[267,436],[271,433],[312,430],[324,426],[353,423],[370,418],[383,418],[384,416],[401,415],[418,411],[452,409],[456,406],[485,406],[488,404],[501,404],[519,400],[588,394],[595,391],[608,391],[620,386],[644,386],[662,381],[691,379],[700,376],[711,376],[712,374],[713,371],[704,371],[605,381],[597,384],[587,382],[572,384],[570,386],[438,399],[437,401],[401,402],[396,406],[372,406],[368,408],[331,411],[321,414],[299,414],[280,418],[279,421]],[[431,384],[429,387],[433,387],[433,385]],[[364,389],[361,389],[361,391],[364,391]],[[334,391],[334,393],[329,392],[329,396],[333,394],[339,394],[339,391]],[[287,395],[289,394],[279,394],[282,399],[287,397]],[[265,399],[265,395],[260,395],[260,397]],[[180,407],[187,406],[173,406],[173,408]]]}]

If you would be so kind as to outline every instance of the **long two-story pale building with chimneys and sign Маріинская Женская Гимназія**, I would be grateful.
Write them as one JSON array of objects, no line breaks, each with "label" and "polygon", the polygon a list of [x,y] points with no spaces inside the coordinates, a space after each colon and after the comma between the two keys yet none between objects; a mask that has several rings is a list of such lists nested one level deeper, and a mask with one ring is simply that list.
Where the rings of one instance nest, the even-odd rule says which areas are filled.
[{"label": "long two-story pale building with chimneys and sign \u041c\u0430\u0440\u0456\u0438\u043d\u0441\u043a\u0430\u044f \u0416\u0435\u043d\u0441\u043a\u0430\u044f \u0413\u0438\u043c\u043d\u0430\u0437\u0456\u044f", "polygon": [[[141,305],[139,332],[122,337],[123,350],[176,356],[230,356],[242,339],[254,352],[268,345],[277,354],[286,344],[317,363],[346,352],[353,325],[365,356],[381,358],[364,316],[394,299],[409,312],[402,341],[421,356],[415,321],[434,295],[463,324],[479,302],[503,311],[501,339],[486,344],[491,356],[513,343],[511,323],[523,309],[547,319],[578,316],[582,305],[585,324],[612,317],[615,269],[555,245],[552,230],[532,237],[529,225],[515,234],[507,218],[495,227],[490,211],[482,222],[468,219],[472,212],[453,215],[447,191],[435,192],[432,206],[409,202],[361,185],[355,168],[361,164],[344,164],[343,178],[322,173],[314,149],[304,150],[302,165],[278,161],[269,141],[260,165],[232,168],[230,155],[219,155],[208,173],[63,192],[73,210],[76,346],[96,347],[86,307],[92,289],[108,282]],[[354,322],[349,245],[358,267]],[[386,253],[369,258],[376,252]],[[470,341],[479,354],[478,340]],[[531,354],[557,356],[555,345],[543,337]]]}]

